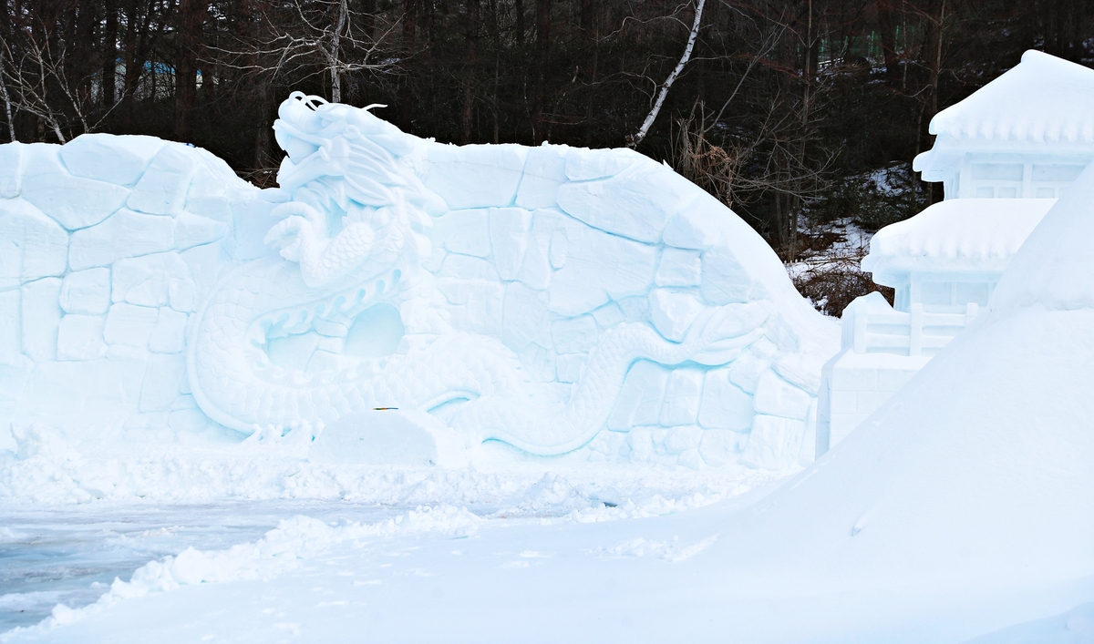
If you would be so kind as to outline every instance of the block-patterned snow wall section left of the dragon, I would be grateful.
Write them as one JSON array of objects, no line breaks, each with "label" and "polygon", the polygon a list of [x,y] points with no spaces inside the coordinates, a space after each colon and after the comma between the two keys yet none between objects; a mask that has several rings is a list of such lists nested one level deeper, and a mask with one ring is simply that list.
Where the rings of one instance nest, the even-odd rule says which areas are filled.
[{"label": "block-patterned snow wall section left of the dragon", "polygon": [[[73,437],[170,434],[167,412],[193,407],[186,327],[208,291],[196,274],[236,262],[233,227],[248,221],[232,208],[268,212],[276,192],[153,137],[0,145],[0,364],[24,374],[4,391],[0,443],[32,420]],[[198,415],[189,431],[216,425]]]}]

